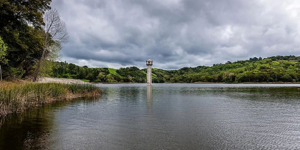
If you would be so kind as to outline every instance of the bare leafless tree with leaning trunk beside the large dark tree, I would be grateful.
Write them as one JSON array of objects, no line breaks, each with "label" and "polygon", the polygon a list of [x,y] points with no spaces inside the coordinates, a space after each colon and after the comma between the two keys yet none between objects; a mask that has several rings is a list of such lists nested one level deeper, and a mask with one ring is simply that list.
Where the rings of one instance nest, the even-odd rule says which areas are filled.
[{"label": "bare leafless tree with leaning trunk beside the large dark tree", "polygon": [[45,25],[42,25],[42,36],[45,40],[44,49],[41,59],[38,61],[38,65],[35,68],[32,81],[35,82],[41,65],[44,60],[56,60],[59,57],[61,50],[61,44],[66,43],[69,36],[67,33],[67,27],[56,9],[51,9],[44,14]]}]

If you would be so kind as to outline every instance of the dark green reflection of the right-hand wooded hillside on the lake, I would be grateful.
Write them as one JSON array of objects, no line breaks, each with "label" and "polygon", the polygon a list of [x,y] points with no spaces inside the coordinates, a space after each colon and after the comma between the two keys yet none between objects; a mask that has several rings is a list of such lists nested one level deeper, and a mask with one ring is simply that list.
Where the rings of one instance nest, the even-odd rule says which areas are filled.
[{"label": "dark green reflection of the right-hand wooded hillside on the lake", "polygon": [[300,95],[297,87],[159,87],[157,90],[168,95],[209,96],[253,101],[291,101],[298,100]]}]

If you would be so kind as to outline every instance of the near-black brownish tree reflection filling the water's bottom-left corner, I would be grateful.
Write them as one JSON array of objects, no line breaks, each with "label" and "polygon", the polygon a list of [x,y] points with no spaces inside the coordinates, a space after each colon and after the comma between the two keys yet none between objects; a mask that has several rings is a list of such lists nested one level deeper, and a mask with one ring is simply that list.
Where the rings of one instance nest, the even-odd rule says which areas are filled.
[{"label": "near-black brownish tree reflection filling the water's bottom-left corner", "polygon": [[4,119],[0,130],[0,149],[45,149],[43,138],[52,128],[53,116],[46,106]]}]

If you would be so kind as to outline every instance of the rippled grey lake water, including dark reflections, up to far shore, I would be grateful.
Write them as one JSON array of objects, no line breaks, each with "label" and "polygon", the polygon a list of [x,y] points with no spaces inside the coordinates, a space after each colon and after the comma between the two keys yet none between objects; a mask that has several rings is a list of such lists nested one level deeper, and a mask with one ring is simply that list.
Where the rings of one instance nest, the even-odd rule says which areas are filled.
[{"label": "rippled grey lake water, including dark reflections, up to far shore", "polygon": [[101,84],[2,120],[0,149],[299,149],[297,84]]}]

